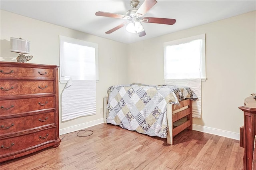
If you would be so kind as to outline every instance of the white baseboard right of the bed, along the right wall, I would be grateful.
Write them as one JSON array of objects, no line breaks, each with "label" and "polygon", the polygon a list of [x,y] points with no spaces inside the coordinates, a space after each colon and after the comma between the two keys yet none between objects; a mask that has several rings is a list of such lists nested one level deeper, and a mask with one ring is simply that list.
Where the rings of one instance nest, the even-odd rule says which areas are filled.
[{"label": "white baseboard right of the bed, along the right wall", "polygon": [[218,136],[223,136],[226,138],[231,138],[235,140],[240,140],[240,134],[235,133],[235,132],[230,132],[226,130],[221,130],[217,128],[211,128],[211,127],[204,127],[201,125],[194,125],[193,124],[193,130],[199,131],[199,132],[205,132],[205,133],[210,133],[210,134],[215,134]]}]

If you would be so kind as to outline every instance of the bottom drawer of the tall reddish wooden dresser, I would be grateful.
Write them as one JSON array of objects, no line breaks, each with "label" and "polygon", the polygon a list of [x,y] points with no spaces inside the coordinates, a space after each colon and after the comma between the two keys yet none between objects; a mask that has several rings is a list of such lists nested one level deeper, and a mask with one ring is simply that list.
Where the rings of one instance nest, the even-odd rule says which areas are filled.
[{"label": "bottom drawer of the tall reddish wooden dresser", "polygon": [[40,145],[50,140],[55,141],[55,128],[49,128],[22,136],[6,138],[0,141],[0,156],[2,157],[9,154],[24,152],[25,150],[32,149],[33,146]]}]

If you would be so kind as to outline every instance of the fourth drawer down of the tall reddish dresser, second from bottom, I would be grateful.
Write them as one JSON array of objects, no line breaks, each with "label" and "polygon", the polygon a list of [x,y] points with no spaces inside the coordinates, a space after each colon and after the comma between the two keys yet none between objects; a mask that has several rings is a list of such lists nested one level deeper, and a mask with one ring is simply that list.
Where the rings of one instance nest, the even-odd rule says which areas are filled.
[{"label": "fourth drawer down of the tall reddish dresser, second from bottom", "polygon": [[54,112],[0,120],[0,136],[54,124]]}]

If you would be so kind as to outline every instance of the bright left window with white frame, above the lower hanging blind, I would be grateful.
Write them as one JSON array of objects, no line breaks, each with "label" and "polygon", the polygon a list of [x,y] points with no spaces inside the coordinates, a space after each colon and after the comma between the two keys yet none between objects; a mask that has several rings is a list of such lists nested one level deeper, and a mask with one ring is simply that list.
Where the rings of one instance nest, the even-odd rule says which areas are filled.
[{"label": "bright left window with white frame, above the lower hanging blind", "polygon": [[98,81],[98,44],[60,36],[60,83]]}]

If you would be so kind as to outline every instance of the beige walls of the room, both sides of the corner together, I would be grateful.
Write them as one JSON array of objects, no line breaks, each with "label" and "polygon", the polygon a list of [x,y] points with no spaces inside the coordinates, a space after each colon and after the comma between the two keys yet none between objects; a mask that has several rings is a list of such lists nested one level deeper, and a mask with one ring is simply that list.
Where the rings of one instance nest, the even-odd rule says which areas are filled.
[{"label": "beige walls of the room, both sides of the corner together", "polygon": [[[60,121],[60,129],[102,119],[102,97],[111,85],[164,83],[163,43],[204,33],[208,79],[202,82],[202,118],[194,119],[194,124],[238,133],[243,125],[242,111],[238,107],[250,93],[256,93],[255,11],[132,44],[114,42],[3,10],[0,14],[0,61],[16,61],[17,53],[9,51],[10,37],[31,41],[30,55],[34,58],[29,63],[52,65],[59,65],[59,35],[98,43],[97,113]],[[61,93],[64,84],[59,87]]]}]

